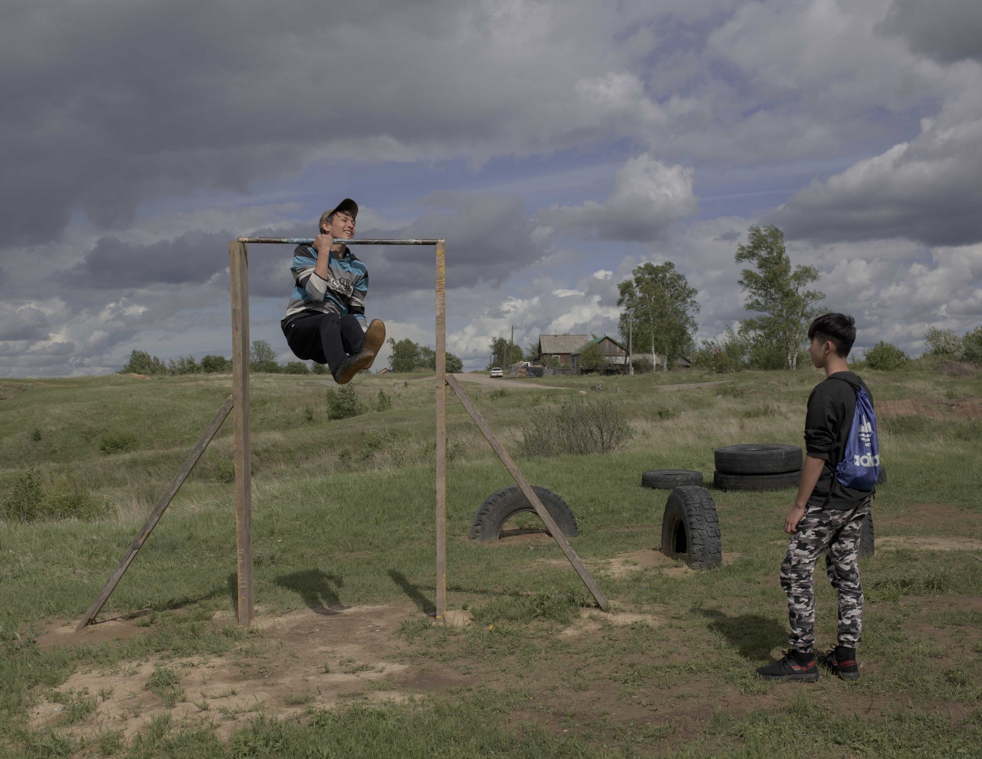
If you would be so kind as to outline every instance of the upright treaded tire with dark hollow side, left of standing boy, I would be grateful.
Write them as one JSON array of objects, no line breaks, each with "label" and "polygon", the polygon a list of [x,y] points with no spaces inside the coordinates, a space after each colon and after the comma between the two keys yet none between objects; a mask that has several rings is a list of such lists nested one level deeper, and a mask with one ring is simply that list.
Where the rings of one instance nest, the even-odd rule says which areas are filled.
[{"label": "upright treaded tire with dark hollow side, left of standing boy", "polygon": [[669,494],[662,517],[661,550],[692,569],[713,569],[722,564],[720,519],[708,490],[685,485]]}]

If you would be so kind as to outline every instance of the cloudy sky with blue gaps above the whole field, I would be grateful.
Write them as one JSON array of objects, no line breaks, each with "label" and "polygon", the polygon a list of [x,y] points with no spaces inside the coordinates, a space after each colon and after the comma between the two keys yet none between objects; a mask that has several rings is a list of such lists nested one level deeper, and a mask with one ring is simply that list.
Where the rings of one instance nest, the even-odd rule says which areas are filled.
[{"label": "cloudy sky with blue gaps above the whole field", "polygon": [[[982,3],[347,5],[5,9],[0,375],[230,355],[229,239],[312,236],[346,196],[358,236],[446,238],[468,369],[513,325],[615,334],[645,260],[718,336],[753,224],[818,266],[860,349],[982,322]],[[250,251],[281,360],[290,256]],[[359,257],[369,318],[432,345],[432,249]]]}]

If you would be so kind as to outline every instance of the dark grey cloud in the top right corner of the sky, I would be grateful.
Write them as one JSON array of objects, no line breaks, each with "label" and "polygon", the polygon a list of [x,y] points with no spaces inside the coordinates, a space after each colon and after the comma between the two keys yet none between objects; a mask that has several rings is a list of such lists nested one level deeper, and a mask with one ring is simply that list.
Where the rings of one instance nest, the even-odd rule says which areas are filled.
[{"label": "dark grey cloud in the top right corner of the sky", "polygon": [[880,28],[941,63],[982,61],[982,3],[977,0],[894,0]]}]

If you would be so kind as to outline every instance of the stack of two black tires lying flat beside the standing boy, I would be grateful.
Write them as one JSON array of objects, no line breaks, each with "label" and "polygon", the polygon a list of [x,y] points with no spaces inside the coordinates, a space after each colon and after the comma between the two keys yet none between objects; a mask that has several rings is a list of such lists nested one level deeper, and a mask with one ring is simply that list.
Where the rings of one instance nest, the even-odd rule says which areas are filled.
[{"label": "stack of two black tires lying flat beside the standing boy", "polygon": [[723,446],[714,454],[717,490],[781,490],[796,488],[801,479],[800,446],[751,443]]}]

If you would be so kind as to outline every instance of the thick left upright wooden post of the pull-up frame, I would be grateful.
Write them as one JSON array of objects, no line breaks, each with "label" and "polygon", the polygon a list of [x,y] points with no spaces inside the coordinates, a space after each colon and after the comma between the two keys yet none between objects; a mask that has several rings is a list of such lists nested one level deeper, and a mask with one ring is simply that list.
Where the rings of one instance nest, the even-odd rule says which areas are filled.
[{"label": "thick left upright wooden post of the pull-up frame", "polygon": [[252,475],[248,399],[248,252],[246,244],[229,243],[232,279],[232,396],[236,438],[236,557],[239,575],[239,623],[252,622]]}]

